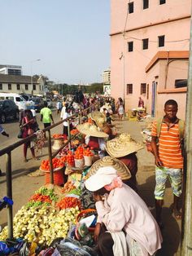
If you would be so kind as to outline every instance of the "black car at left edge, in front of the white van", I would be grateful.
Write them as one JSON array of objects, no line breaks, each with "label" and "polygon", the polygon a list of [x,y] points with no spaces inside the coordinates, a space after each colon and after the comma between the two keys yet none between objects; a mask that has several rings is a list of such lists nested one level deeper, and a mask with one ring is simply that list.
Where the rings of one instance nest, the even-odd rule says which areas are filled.
[{"label": "black car at left edge, in front of the white van", "polygon": [[8,118],[19,120],[20,112],[15,102],[11,99],[0,100],[0,122],[4,123]]}]

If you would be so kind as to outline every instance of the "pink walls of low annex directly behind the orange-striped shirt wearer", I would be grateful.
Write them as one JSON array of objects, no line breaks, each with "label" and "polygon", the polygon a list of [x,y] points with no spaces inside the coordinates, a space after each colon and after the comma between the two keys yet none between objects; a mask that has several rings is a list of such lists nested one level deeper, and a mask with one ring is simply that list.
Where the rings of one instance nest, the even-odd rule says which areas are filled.
[{"label": "pink walls of low annex directly behind the orange-striped shirt wearer", "polygon": [[[175,80],[187,79],[188,60],[159,60],[147,73],[149,97],[146,99],[146,112],[151,114],[152,83],[157,83],[155,117],[164,115],[164,104],[175,99],[179,105],[178,117],[185,119],[186,87],[175,88]],[[168,68],[167,68],[168,67]]]}]

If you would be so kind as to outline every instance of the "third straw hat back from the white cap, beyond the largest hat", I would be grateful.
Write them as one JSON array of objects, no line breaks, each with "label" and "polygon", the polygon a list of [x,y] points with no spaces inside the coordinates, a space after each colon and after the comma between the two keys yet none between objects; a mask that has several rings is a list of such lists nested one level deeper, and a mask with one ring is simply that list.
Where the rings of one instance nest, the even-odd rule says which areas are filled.
[{"label": "third straw hat back from the white cap, beyond the largest hat", "polygon": [[98,137],[98,138],[108,137],[108,135],[105,132],[98,130],[97,126],[94,126],[89,123],[78,125],[76,126],[76,129],[79,130],[81,134],[84,134],[84,135],[89,135],[89,136]]}]

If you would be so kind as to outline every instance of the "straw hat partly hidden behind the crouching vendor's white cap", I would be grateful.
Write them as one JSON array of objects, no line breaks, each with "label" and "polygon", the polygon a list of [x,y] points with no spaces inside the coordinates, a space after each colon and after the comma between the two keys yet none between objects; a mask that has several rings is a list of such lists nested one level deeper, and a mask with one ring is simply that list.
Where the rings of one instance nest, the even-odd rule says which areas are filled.
[{"label": "straw hat partly hidden behind the crouching vendor's white cap", "polygon": [[94,164],[91,166],[89,173],[86,177],[90,177],[97,173],[98,169],[101,167],[113,167],[116,169],[117,174],[120,175],[120,178],[122,180],[131,178],[130,171],[128,167],[120,160],[112,157],[103,157],[102,159],[99,159],[98,161],[95,161]]}]

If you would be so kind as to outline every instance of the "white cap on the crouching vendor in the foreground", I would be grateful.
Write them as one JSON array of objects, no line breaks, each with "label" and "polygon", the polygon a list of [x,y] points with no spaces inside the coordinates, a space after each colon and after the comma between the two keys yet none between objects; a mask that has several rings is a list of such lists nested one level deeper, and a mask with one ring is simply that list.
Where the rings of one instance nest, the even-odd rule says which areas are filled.
[{"label": "white cap on the crouching vendor in the foreground", "polygon": [[89,191],[94,192],[110,184],[116,177],[117,173],[115,168],[111,166],[101,167],[95,174],[90,176],[89,179],[85,180],[85,187]]}]

